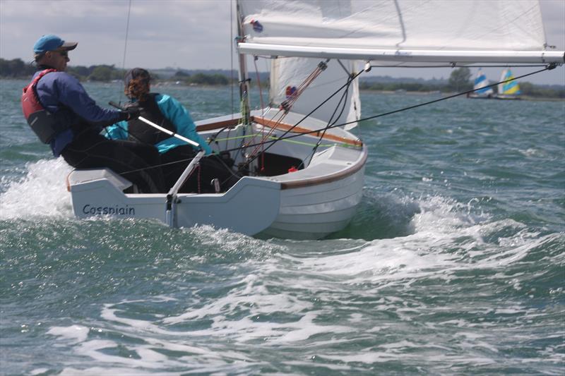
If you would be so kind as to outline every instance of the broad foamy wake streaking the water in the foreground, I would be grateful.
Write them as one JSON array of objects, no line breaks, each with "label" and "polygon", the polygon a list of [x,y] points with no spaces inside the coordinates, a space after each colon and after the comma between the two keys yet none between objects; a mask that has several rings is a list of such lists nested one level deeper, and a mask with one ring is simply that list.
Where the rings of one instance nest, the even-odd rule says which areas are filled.
[{"label": "broad foamy wake streaking the water in the foreground", "polygon": [[[453,352],[480,349],[472,360],[451,357],[448,364],[496,364],[504,343],[493,334],[489,313],[527,325],[530,312],[516,299],[498,298],[532,293],[528,279],[513,268],[531,263],[531,274],[544,273],[543,266],[534,266],[539,249],[554,249],[545,257],[564,265],[565,236],[540,236],[513,219],[493,219],[482,213],[479,201],[462,205],[429,197],[413,203],[418,210],[410,219],[412,234],[371,241],[262,241],[210,226],[175,231],[195,254],[185,260],[186,252],[167,253],[175,277],[164,284],[155,279],[157,296],[105,299],[97,302],[96,325],[79,321],[49,328],[53,340],[76,355],[62,374],[83,368],[85,358],[92,359],[92,372],[232,373],[273,363],[315,368],[317,349],[328,346],[336,350],[323,353],[323,369],[336,372],[393,360],[399,353],[409,363],[421,362],[422,351],[441,358],[445,346]],[[144,255],[147,265],[163,261],[157,250]],[[469,289],[482,291],[470,294],[475,303],[465,300]],[[453,312],[442,309],[447,299]],[[352,310],[355,304],[359,309]],[[367,335],[374,341],[370,351],[341,348],[364,346]],[[444,345],[422,348],[425,341]],[[295,346],[304,347],[302,360],[285,357],[285,349]]]}]

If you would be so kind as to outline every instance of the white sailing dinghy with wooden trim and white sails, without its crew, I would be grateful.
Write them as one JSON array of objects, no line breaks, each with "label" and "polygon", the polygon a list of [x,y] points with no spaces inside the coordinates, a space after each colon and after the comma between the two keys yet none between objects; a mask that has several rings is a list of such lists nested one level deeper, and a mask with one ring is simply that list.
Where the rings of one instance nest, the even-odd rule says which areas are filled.
[{"label": "white sailing dinghy with wooden trim and white sails, without its crew", "polygon": [[[169,192],[140,194],[107,169],[75,170],[68,180],[77,217],[322,238],[344,229],[362,200],[367,145],[351,129],[360,119],[363,73],[355,61],[364,71],[374,64],[564,62],[563,51],[546,50],[537,0],[236,3],[242,112],[197,125],[245,176],[227,192],[178,193],[194,163]],[[272,61],[270,101],[256,111],[249,111],[246,56]]]}]

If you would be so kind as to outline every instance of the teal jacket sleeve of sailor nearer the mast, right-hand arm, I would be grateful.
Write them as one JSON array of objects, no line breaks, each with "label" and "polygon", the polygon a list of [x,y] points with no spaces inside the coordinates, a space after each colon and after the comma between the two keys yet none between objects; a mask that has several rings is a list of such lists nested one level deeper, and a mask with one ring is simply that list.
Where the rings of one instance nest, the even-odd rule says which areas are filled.
[{"label": "teal jacket sleeve of sailor nearer the mast, right-hand arm", "polygon": [[[198,142],[198,145],[201,145],[203,150],[206,152],[206,155],[212,154],[212,149],[210,148],[210,145],[208,145],[208,142],[206,142],[206,140],[204,140],[200,135],[198,135],[198,132],[196,132],[196,125],[194,124],[194,121],[192,121],[189,111],[185,109],[184,106],[177,101],[177,99],[165,94],[157,96],[156,99],[157,106],[163,116],[174,123],[179,135]],[[157,146],[157,149],[159,149],[160,152],[165,152],[172,147],[185,144],[186,142],[183,140],[172,137],[159,142],[155,146]]]}]

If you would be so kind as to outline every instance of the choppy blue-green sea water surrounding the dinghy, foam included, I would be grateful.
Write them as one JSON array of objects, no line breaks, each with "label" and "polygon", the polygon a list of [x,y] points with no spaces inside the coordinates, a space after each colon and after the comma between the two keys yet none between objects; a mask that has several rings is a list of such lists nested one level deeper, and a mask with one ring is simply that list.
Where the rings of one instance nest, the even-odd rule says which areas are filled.
[{"label": "choppy blue-green sea water surrounding the dinghy, foam included", "polygon": [[[362,124],[359,212],[290,241],[74,219],[71,169],[20,114],[25,83],[0,85],[2,374],[564,374],[564,102],[451,99]],[[157,90],[196,120],[231,106],[227,88]],[[363,114],[435,98],[367,92]]]}]

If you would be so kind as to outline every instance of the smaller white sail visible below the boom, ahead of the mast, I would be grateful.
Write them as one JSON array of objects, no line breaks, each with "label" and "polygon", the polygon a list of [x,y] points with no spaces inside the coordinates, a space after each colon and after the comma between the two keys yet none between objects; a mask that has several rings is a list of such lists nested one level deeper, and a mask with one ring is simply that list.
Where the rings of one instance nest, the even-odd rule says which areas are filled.
[{"label": "smaller white sail visible below the boom, ahead of the mast", "polygon": [[[304,83],[308,75],[323,61],[314,58],[286,58],[275,59],[271,63],[270,71],[270,104],[279,107],[287,101],[295,90]],[[331,94],[347,83],[347,78],[357,73],[355,61],[337,60],[328,61],[327,68],[319,77],[309,85],[296,102],[292,104],[292,111],[299,114],[309,114]],[[359,101],[359,81],[353,80],[347,90],[341,90],[328,102],[316,109],[312,116],[322,121],[331,121],[335,124],[348,123],[345,129],[357,126],[361,115],[361,102]],[[343,99],[342,99],[343,97]],[[353,122],[353,123],[351,123]]]}]

